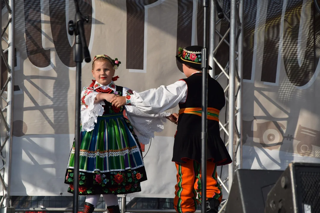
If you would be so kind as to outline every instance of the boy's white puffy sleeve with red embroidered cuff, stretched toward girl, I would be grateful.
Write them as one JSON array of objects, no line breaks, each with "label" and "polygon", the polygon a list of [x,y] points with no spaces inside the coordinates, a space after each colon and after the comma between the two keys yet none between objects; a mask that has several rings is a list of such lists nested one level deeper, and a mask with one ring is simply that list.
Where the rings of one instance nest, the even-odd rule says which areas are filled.
[{"label": "boy's white puffy sleeve with red embroidered cuff, stretched toward girl", "polygon": [[179,80],[168,86],[148,89],[143,92],[133,91],[126,96],[126,105],[137,107],[148,114],[156,114],[172,109],[187,99],[188,87],[184,80]]}]

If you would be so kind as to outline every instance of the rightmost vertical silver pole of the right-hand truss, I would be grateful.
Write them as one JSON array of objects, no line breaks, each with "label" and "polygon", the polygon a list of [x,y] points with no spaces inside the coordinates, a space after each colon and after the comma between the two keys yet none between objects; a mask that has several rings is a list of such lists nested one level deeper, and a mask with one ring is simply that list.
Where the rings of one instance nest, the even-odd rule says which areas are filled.
[{"label": "rightmost vertical silver pole of the right-hand truss", "polygon": [[244,0],[239,0],[239,29],[240,29],[240,35],[238,39],[238,87],[239,92],[237,95],[237,131],[238,131],[238,137],[237,137],[237,143],[239,144],[238,149],[236,151],[236,169],[242,168],[242,97],[243,97],[243,90],[242,90],[242,80],[243,80],[243,4]]}]

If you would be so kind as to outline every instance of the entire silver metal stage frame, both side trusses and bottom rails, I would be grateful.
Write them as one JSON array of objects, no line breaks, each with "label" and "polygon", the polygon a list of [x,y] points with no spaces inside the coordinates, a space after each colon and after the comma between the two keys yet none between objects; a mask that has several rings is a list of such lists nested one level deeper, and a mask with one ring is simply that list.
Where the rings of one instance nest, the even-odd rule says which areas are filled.
[{"label": "entire silver metal stage frame, both side trusses and bottom rails", "polygon": [[[205,1],[205,0],[204,0]],[[243,76],[243,11],[244,11],[244,0],[230,0],[230,10],[223,11],[224,18],[230,22],[230,27],[227,32],[222,35],[220,31],[216,29],[221,19],[217,18],[216,7],[214,0],[206,0],[209,3],[209,57],[208,63],[213,70],[209,71],[211,77],[219,80],[222,77],[227,78],[228,85],[225,88],[225,94],[228,92],[226,97],[226,111],[228,113],[228,120],[225,124],[220,124],[220,131],[224,131],[227,135],[226,146],[228,147],[231,159],[233,163],[228,165],[228,177],[221,179],[218,177],[222,187],[229,193],[233,176],[236,169],[242,168],[242,76]],[[219,1],[218,1],[219,2]],[[1,55],[8,70],[8,78],[1,88],[1,97],[6,103],[3,109],[0,110],[0,120],[3,122],[6,129],[6,137],[0,144],[0,158],[3,160],[4,165],[0,166],[0,170],[4,169],[3,174],[0,175],[0,181],[4,188],[4,196],[0,202],[2,207],[11,207],[10,201],[10,167],[11,167],[11,149],[12,149],[12,111],[13,111],[13,75],[14,75],[14,64],[15,64],[15,48],[14,48],[14,4],[15,0],[4,0],[5,6],[8,10],[8,23],[6,26],[2,26],[2,41],[8,44],[8,47],[3,50],[1,47]],[[1,1],[0,1],[1,6]],[[0,20],[2,14],[0,12]],[[206,22],[204,22],[206,23]],[[7,38],[4,37],[7,32]],[[229,42],[226,37],[230,36]],[[219,39],[220,38],[220,41]],[[216,43],[216,41],[219,41]],[[229,62],[226,67],[222,67],[215,53],[220,45],[225,42],[229,46]],[[0,44],[1,45],[1,44]],[[5,57],[5,53],[8,52],[8,59]],[[1,65],[1,61],[0,61]],[[215,75],[215,65],[218,65],[221,69],[219,75]],[[7,90],[7,92],[5,92]],[[6,112],[6,115],[4,113]],[[6,116],[6,118],[5,118]],[[5,155],[2,151],[5,150]],[[226,183],[228,182],[228,186]],[[227,205],[227,200],[221,203],[222,212]],[[125,209],[125,197],[122,198],[122,212],[175,212],[173,209]],[[68,208],[26,208],[16,209],[17,211],[71,211]],[[79,209],[81,210],[81,209]],[[147,211],[146,211],[147,210]],[[98,212],[105,212],[106,209],[95,209]],[[200,212],[197,210],[197,212]]]}]

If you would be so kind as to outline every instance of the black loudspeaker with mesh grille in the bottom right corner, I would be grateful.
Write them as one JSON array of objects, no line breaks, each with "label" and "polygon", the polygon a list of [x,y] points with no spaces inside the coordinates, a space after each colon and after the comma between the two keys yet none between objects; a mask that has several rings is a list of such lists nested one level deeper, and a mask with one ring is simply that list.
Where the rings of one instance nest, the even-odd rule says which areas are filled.
[{"label": "black loudspeaker with mesh grille in the bottom right corner", "polygon": [[265,213],[273,212],[320,212],[320,164],[289,164],[268,194]]}]

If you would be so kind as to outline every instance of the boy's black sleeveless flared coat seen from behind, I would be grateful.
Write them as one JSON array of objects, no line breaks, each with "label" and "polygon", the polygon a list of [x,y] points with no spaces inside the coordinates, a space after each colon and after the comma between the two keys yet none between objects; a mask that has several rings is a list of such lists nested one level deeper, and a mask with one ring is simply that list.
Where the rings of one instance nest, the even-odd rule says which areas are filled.
[{"label": "boy's black sleeveless flared coat seen from behind", "polygon": [[[202,107],[202,72],[195,73],[186,79],[182,79],[188,86],[187,99],[179,103],[181,109],[192,109]],[[207,120],[208,124],[208,159],[212,159],[218,165],[230,163],[228,156],[220,155],[221,150],[226,147],[220,138],[219,111],[225,105],[225,95],[220,84],[208,76],[208,111],[212,112],[212,119]],[[211,109],[210,111],[212,111]],[[201,113],[201,112],[199,112]],[[177,133],[174,139],[172,161],[185,163],[186,159],[201,162],[201,116],[196,114],[181,113],[178,119]],[[220,157],[217,157],[219,156]],[[231,160],[231,159],[230,159]]]}]

